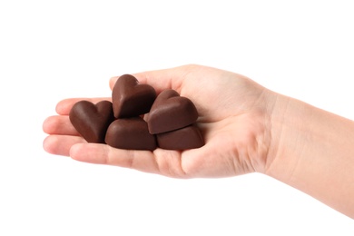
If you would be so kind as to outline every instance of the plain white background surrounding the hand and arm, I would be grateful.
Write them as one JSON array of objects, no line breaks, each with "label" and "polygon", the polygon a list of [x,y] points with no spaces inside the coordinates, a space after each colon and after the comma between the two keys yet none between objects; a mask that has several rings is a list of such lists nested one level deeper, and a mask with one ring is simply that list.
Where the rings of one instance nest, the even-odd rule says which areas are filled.
[{"label": "plain white background surrounding the hand and arm", "polygon": [[182,64],[244,74],[354,119],[351,1],[0,1],[0,235],[353,235],[354,222],[252,173],[174,180],[44,152],[67,97]]}]

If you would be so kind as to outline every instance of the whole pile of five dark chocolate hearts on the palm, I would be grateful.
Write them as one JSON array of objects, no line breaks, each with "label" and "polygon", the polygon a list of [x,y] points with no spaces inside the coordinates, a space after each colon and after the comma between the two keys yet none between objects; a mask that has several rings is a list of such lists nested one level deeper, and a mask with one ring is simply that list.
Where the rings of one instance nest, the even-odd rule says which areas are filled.
[{"label": "whole pile of five dark chocolate hearts on the palm", "polygon": [[114,84],[112,103],[77,102],[69,118],[88,143],[150,151],[204,145],[196,125],[198,112],[190,99],[171,89],[157,95],[151,85],[139,84],[131,74],[123,74]]}]

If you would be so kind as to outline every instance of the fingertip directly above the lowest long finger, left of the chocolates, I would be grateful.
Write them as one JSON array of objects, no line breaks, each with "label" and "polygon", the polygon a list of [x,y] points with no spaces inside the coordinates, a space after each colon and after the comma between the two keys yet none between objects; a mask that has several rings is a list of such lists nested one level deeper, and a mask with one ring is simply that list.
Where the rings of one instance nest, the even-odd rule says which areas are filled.
[{"label": "fingertip directly above the lowest long finger, left of the chocolates", "polygon": [[79,136],[49,135],[44,139],[43,148],[45,152],[55,155],[69,156],[70,148],[76,143],[86,143]]}]

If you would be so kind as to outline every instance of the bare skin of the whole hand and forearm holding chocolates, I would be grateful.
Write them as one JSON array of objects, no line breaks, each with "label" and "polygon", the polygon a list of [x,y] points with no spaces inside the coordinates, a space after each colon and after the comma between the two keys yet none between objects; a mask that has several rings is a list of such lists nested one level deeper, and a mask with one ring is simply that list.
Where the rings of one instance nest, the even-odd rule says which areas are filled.
[{"label": "bare skin of the whole hand and forearm holding chocolates", "polygon": [[[220,178],[260,172],[354,218],[354,123],[275,93],[229,71],[189,64],[133,74],[157,93],[174,89],[196,105],[205,145],[150,151],[86,143],[70,123],[71,98],[43,124],[44,150],[81,162],[116,165],[172,178]],[[113,85],[118,77],[110,80]],[[147,114],[148,115],[148,114]]]}]

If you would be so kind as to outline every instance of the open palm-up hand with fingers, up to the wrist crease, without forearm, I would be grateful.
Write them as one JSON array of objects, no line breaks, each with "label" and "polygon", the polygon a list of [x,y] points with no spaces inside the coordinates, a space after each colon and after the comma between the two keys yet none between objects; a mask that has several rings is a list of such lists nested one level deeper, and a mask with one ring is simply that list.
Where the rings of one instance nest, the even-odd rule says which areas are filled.
[{"label": "open palm-up hand with fingers, up to the wrist crease, without forearm", "polygon": [[[57,104],[59,115],[44,121],[44,150],[74,160],[128,167],[174,178],[227,177],[263,172],[270,148],[270,113],[275,93],[241,74],[184,65],[172,69],[133,74],[157,93],[174,89],[196,105],[198,125],[205,145],[186,151],[160,148],[150,151],[115,149],[86,143],[70,123],[68,114],[81,99]],[[118,77],[110,80],[110,86]],[[103,99],[86,99],[97,103]]]}]

